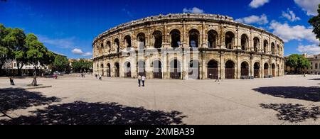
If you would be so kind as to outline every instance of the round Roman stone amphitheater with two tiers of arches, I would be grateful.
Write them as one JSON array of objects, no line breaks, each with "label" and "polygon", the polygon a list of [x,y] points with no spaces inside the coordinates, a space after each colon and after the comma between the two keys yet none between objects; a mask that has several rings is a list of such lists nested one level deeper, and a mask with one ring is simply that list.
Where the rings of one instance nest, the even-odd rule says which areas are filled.
[{"label": "round Roman stone amphitheater with two tiers of arches", "polygon": [[284,75],[284,42],[229,16],[179,13],[124,23],[92,44],[95,74],[147,79]]}]

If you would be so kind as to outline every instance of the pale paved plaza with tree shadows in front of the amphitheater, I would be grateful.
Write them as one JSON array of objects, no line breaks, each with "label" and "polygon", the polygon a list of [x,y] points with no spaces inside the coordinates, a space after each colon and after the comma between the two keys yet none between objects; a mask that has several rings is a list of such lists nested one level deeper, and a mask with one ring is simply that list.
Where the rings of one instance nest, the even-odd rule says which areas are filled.
[{"label": "pale paved plaza with tree shadows in front of the amphitheater", "polygon": [[[253,80],[0,78],[0,124],[320,124],[320,76]],[[11,89],[10,89],[11,88]],[[11,118],[8,118],[11,117]]]}]

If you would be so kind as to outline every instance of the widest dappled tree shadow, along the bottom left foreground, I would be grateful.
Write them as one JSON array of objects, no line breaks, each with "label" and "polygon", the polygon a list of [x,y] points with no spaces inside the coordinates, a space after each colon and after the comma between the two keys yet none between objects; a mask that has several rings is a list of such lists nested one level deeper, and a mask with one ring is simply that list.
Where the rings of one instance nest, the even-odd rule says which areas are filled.
[{"label": "widest dappled tree shadow, along the bottom left foreground", "polygon": [[144,108],[122,106],[117,103],[87,103],[48,106],[33,111],[33,116],[21,116],[4,125],[171,125],[183,124],[181,112],[151,111]]}]

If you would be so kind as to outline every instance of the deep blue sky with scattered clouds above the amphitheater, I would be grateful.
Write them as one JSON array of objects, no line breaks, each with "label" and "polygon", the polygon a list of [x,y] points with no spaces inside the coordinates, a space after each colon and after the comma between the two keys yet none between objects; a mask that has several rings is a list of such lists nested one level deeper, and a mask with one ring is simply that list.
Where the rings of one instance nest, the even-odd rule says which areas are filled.
[{"label": "deep blue sky with scattered clouds above the amphitheater", "polygon": [[320,53],[308,23],[320,0],[8,0],[0,23],[35,33],[49,50],[90,58],[92,40],[121,23],[167,13],[215,13],[283,38],[285,55]]}]

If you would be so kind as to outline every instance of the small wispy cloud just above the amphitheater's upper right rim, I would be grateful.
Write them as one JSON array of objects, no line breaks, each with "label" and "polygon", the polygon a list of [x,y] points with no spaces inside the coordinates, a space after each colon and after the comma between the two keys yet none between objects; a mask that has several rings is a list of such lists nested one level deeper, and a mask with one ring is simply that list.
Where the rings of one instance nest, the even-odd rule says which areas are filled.
[{"label": "small wispy cloud just above the amphitheater's upper right rim", "polygon": [[247,24],[251,24],[251,23],[257,23],[259,25],[265,25],[267,23],[269,23],[268,18],[265,14],[262,14],[261,16],[248,16],[245,18],[238,18],[235,21],[240,22],[240,23],[247,23]]}]

